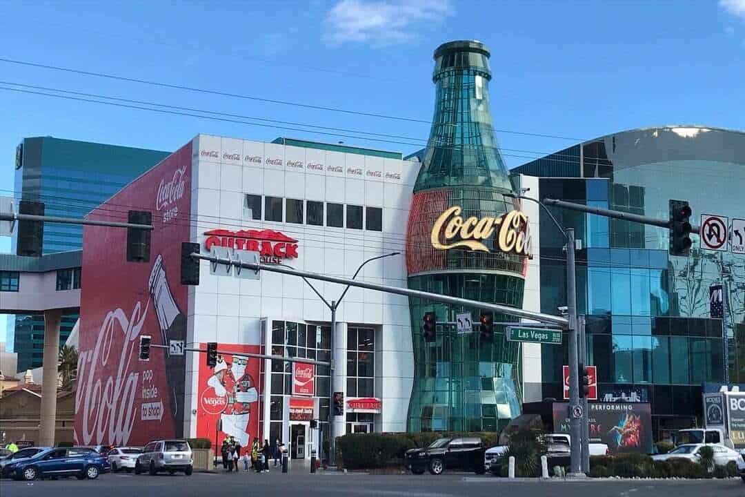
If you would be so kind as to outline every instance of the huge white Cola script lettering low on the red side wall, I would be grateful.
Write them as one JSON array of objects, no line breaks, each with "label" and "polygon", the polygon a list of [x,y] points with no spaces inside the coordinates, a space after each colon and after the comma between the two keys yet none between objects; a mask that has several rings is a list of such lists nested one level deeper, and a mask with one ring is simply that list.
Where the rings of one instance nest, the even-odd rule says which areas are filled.
[{"label": "huge white Cola script lettering low on the red side wall", "polygon": [[[139,379],[139,373],[130,372],[130,364],[136,355],[137,338],[145,325],[150,303],[142,314],[141,308],[142,305],[136,303],[130,318],[121,308],[110,311],[101,324],[95,347],[80,352],[75,417],[80,419],[78,413],[82,409],[83,445],[104,441],[117,446],[127,445],[130,439],[137,412],[134,403]],[[109,360],[114,344],[121,344],[116,376],[97,375],[98,368],[112,370]],[[112,357],[112,362],[115,360]]]}]

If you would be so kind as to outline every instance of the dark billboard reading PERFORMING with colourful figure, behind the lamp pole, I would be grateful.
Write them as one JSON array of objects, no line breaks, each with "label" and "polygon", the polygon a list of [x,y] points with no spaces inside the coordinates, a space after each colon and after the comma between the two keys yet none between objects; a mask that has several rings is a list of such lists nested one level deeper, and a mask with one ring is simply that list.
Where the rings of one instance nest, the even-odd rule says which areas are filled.
[{"label": "dark billboard reading PERFORMING with colourful figure, behind the lamp pole", "polygon": [[[641,402],[590,402],[587,405],[590,441],[601,442],[610,452],[651,454],[652,411]],[[554,432],[569,434],[569,405],[554,402]],[[574,440],[572,440],[574,443]]]}]

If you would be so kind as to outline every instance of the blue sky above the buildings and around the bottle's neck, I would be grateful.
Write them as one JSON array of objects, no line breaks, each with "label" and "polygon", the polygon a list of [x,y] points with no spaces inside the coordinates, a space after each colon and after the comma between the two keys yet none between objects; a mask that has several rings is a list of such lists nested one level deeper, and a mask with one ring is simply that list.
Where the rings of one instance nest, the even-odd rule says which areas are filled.
[{"label": "blue sky above the buildings and around the bottle's neck", "polygon": [[[9,1],[3,10],[0,58],[423,120],[434,48],[480,39],[492,51],[492,115],[510,167],[572,142],[507,131],[589,139],[655,124],[744,127],[745,0]],[[429,131],[6,62],[0,81],[421,140]],[[13,189],[24,136],[160,150],[197,133],[417,148],[4,89],[0,109],[0,194]],[[0,238],[0,250],[9,246]]]}]

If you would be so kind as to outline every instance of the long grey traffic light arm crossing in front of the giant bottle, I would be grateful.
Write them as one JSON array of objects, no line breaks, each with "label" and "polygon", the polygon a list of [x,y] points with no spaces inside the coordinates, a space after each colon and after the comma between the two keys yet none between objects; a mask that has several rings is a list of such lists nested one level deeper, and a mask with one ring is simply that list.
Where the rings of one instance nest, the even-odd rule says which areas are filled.
[{"label": "long grey traffic light arm crossing in front of the giant bottle", "polygon": [[378,285],[377,283],[362,282],[356,279],[340,278],[338,276],[329,276],[319,273],[310,273],[308,271],[284,268],[277,265],[267,265],[262,264],[261,262],[236,261],[216,256],[206,256],[200,253],[192,253],[191,257],[194,257],[194,259],[202,259],[203,261],[215,262],[217,264],[240,266],[241,268],[253,269],[255,271],[265,270],[271,273],[282,273],[309,279],[320,279],[321,281],[340,283],[342,285],[355,286],[358,288],[367,288],[368,290],[384,291],[389,294],[405,295],[407,297],[416,297],[424,300],[434,300],[434,302],[453,304],[455,306],[480,308],[484,311],[494,311],[501,314],[507,314],[508,316],[524,317],[526,319],[539,321],[541,323],[554,324],[557,326],[561,326],[564,329],[568,329],[569,327],[569,320],[565,317],[554,316],[553,314],[543,314],[542,312],[525,311],[521,308],[504,306],[502,304],[461,299],[459,297],[449,297],[448,295],[432,294],[428,291],[410,290],[409,288],[401,288],[392,285]]}]

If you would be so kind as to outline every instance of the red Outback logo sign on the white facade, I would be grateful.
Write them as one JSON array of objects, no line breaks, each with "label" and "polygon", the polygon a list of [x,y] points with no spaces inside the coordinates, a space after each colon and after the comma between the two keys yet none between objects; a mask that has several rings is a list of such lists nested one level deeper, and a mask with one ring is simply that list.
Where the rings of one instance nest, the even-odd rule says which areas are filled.
[{"label": "red Outback logo sign on the white facade", "polygon": [[272,229],[211,229],[204,233],[204,248],[228,247],[258,252],[261,262],[279,264],[282,259],[297,258],[297,240]]}]

